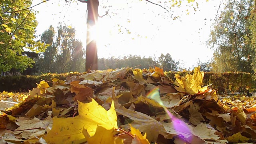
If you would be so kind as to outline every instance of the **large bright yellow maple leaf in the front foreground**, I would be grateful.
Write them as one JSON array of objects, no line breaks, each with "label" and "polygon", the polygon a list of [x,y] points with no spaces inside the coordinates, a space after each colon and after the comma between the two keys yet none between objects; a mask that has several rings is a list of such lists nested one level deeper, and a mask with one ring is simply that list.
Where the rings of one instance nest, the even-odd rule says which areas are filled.
[{"label": "large bright yellow maple leaf in the front foreground", "polygon": [[90,136],[94,136],[98,126],[106,130],[118,128],[113,101],[108,111],[94,99],[86,104],[78,101],[78,113],[79,115],[74,118],[54,117],[52,130],[44,138],[46,142],[49,144],[79,144],[86,142],[84,130],[87,130]]}]

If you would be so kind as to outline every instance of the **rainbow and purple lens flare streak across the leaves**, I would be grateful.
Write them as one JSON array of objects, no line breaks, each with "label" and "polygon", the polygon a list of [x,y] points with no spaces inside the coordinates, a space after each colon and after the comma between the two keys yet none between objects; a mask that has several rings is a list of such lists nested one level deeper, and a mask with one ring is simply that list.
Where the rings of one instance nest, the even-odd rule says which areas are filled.
[{"label": "rainbow and purple lens flare streak across the leaves", "polygon": [[[170,111],[164,106],[164,104],[163,104],[163,102],[160,98],[160,89],[158,87],[151,90],[147,94],[146,97],[149,98],[149,99],[155,100],[156,102],[158,102],[164,108],[164,111],[168,114],[168,116],[172,120],[172,122],[170,124],[172,124],[172,126],[175,129],[177,135],[180,134],[180,132],[188,134],[189,136],[194,135],[191,132],[190,128],[188,128],[188,124],[186,124],[182,120],[179,120],[178,118],[176,118],[176,116],[174,116],[172,113],[170,113]],[[182,137],[180,136],[180,138],[182,138]],[[192,141],[192,137],[190,137],[190,138],[191,138],[191,140],[188,140],[188,139],[186,139],[186,140],[187,141]],[[184,138],[182,138],[182,139],[184,139]]]}]

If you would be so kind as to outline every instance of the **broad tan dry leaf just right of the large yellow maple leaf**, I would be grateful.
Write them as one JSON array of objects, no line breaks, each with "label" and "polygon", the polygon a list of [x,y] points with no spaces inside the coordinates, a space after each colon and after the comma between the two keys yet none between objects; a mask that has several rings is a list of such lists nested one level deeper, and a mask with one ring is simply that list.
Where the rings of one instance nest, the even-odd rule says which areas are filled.
[{"label": "broad tan dry leaf just right of the large yellow maple leaf", "polygon": [[[159,134],[165,134],[163,125],[146,114],[128,110],[124,107],[116,109],[116,112],[132,119],[132,126],[142,131],[143,134],[147,132],[147,139],[149,142],[156,142]],[[122,125],[122,127],[130,128],[128,124]]]}]

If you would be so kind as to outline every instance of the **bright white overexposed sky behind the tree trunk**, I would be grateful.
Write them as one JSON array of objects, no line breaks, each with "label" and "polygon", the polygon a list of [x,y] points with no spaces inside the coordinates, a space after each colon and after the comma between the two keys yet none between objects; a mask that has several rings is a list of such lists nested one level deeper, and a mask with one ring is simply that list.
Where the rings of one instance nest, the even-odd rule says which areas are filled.
[{"label": "bright white overexposed sky behind the tree trunk", "polygon": [[[155,0],[152,0],[154,2]],[[42,0],[33,0],[38,4]],[[163,3],[158,3],[164,6]],[[196,66],[197,60],[211,60],[213,50],[206,45],[219,0],[198,0],[195,12],[188,6],[174,8],[169,13],[144,0],[100,0],[99,15],[106,10],[110,16],[98,19],[98,57],[155,56],[169,53],[173,59],[182,60],[184,68]],[[103,6],[105,6],[103,8]],[[53,25],[66,24],[76,28],[76,38],[86,47],[86,4],[74,1],[50,0],[34,7],[38,11],[36,34],[40,35]],[[187,15],[187,11],[190,14]],[[170,16],[180,16],[172,20]],[[119,29],[121,32],[119,32]],[[128,34],[128,31],[130,34]]]}]

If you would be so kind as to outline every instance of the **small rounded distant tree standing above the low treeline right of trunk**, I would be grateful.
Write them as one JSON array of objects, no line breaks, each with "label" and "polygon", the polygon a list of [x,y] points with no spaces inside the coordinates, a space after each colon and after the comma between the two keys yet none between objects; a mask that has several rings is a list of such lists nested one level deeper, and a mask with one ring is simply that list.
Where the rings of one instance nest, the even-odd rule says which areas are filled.
[{"label": "small rounded distant tree standing above the low treeline right of trunk", "polygon": [[172,56],[168,53],[166,55],[161,54],[158,58],[158,64],[160,68],[163,68],[166,71],[178,71],[179,62],[172,59]]}]

